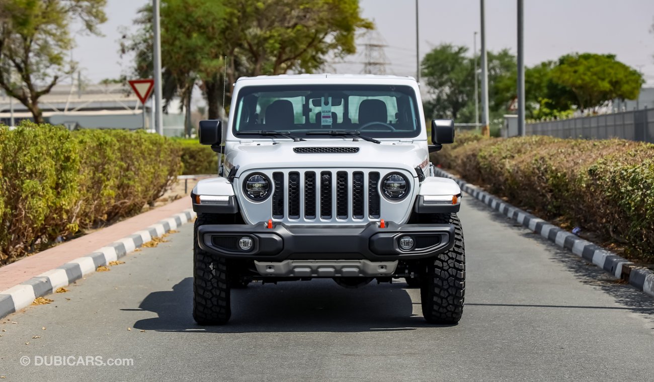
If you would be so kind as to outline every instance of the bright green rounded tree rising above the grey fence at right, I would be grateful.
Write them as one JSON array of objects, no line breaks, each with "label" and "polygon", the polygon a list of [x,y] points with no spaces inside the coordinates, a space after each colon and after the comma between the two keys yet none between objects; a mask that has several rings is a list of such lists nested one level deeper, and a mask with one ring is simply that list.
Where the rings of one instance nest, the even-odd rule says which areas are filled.
[{"label": "bright green rounded tree rising above the grey fence at right", "polygon": [[551,80],[570,91],[560,101],[579,110],[597,108],[612,99],[636,99],[645,83],[642,74],[617,61],[613,54],[568,54],[559,58]]}]

